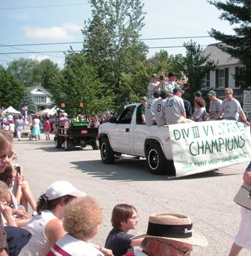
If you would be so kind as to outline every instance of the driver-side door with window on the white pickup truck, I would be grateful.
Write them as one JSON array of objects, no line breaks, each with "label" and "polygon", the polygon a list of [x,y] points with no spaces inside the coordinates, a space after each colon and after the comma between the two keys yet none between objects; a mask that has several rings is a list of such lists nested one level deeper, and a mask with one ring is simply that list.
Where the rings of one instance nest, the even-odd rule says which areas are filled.
[{"label": "driver-side door with window on the white pickup truck", "polygon": [[131,118],[135,106],[128,106],[117,118],[114,131],[111,136],[111,145],[114,151],[131,153],[132,127]]}]

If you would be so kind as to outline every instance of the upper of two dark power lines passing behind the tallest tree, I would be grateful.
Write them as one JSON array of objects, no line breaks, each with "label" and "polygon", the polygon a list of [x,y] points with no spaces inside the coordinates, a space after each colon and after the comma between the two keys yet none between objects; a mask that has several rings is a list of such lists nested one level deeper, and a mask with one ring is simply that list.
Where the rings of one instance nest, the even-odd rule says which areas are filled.
[{"label": "upper of two dark power lines passing behind the tallest tree", "polygon": [[[192,36],[192,37],[149,37],[149,38],[142,38],[140,40],[173,40],[173,39],[188,39],[188,38],[206,38],[210,36]],[[75,44],[75,43],[84,43],[83,41],[75,41],[75,42],[56,42],[56,43],[19,43],[19,44],[5,44],[0,45],[3,46],[47,46],[47,45],[55,45],[55,44]]]}]

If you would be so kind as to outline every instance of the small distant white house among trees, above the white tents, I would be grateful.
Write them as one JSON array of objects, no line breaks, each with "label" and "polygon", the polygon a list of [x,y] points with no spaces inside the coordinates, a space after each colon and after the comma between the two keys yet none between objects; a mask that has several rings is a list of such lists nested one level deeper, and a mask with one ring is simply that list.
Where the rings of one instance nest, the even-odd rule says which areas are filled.
[{"label": "small distant white house among trees, above the white tents", "polygon": [[36,106],[36,112],[43,109],[50,109],[53,105],[51,100],[52,94],[40,85],[32,86],[28,88],[31,94],[31,100]]}]

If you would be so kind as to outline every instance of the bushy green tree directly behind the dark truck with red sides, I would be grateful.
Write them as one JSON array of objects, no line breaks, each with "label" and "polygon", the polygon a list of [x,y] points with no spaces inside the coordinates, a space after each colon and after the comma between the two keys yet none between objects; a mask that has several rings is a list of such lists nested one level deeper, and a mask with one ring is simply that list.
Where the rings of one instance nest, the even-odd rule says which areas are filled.
[{"label": "bushy green tree directly behind the dark truck with red sides", "polygon": [[112,91],[107,91],[100,82],[96,69],[87,64],[83,53],[68,52],[65,67],[61,73],[52,74],[49,84],[53,88],[49,90],[52,100],[59,107],[61,103],[65,103],[66,112],[71,115],[82,111],[71,108],[79,103],[84,103],[87,115],[95,115],[114,107],[111,101]]}]

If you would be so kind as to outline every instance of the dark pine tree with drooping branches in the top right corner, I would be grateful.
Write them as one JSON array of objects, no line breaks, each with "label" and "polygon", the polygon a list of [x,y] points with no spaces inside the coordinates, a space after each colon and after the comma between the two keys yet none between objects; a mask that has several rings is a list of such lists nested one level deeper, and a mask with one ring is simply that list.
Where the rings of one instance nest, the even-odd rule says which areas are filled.
[{"label": "dark pine tree with drooping branches in the top right corner", "polygon": [[220,31],[211,29],[210,35],[223,44],[218,47],[228,52],[235,58],[241,60],[246,66],[246,86],[251,85],[251,1],[250,0],[229,0],[209,1],[219,10],[223,10],[220,19],[229,21],[230,25],[236,24],[233,28],[235,35],[223,34]]}]

